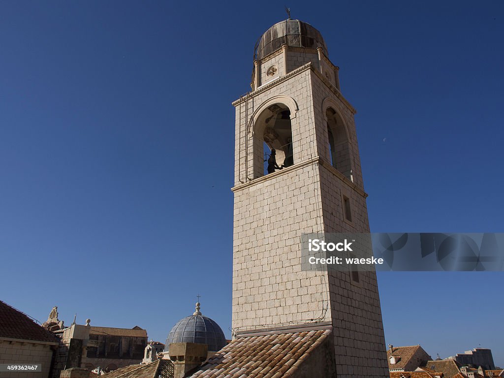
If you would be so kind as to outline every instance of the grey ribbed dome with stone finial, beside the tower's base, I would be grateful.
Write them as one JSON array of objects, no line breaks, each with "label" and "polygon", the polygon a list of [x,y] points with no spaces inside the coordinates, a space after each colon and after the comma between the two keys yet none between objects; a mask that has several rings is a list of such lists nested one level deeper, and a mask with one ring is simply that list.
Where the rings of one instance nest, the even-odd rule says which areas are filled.
[{"label": "grey ribbed dome with stone finial, beside the tower's base", "polygon": [[224,332],[219,325],[201,314],[200,303],[196,304],[194,314],[179,320],[173,326],[166,338],[166,351],[169,350],[170,343],[207,344],[208,350],[214,352],[227,344]]}]

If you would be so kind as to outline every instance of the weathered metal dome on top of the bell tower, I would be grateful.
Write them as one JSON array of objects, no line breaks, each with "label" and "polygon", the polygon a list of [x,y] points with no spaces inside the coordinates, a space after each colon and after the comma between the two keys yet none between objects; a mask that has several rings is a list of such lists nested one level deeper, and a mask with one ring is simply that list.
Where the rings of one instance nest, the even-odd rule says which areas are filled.
[{"label": "weathered metal dome on top of the bell tower", "polygon": [[329,56],[324,38],[317,29],[305,22],[288,19],[276,23],[263,34],[256,46],[256,57],[261,59],[278,50],[284,43],[294,47],[321,46],[324,54]]}]

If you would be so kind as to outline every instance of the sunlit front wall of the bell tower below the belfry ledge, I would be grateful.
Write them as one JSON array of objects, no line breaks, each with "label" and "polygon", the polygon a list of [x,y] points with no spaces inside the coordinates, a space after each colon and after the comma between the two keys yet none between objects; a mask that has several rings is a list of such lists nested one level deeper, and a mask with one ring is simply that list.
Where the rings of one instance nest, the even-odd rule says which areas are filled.
[{"label": "sunlit front wall of the bell tower below the belfry ledge", "polygon": [[301,271],[300,264],[301,233],[322,227],[321,209],[311,200],[320,192],[317,172],[308,165],[268,176],[235,192],[235,331],[330,320],[325,273]]}]

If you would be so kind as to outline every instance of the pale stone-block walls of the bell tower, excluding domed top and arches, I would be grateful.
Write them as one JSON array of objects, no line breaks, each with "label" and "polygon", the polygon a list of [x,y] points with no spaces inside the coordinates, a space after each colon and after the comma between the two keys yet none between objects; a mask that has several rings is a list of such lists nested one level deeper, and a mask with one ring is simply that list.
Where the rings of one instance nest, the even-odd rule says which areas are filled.
[{"label": "pale stone-block walls of the bell tower, excluding domed top and arches", "polygon": [[[240,331],[329,320],[338,377],[384,378],[388,365],[375,273],[301,271],[302,233],[368,232],[369,226],[355,110],[320,73],[320,65],[299,67],[313,57],[290,60],[289,66],[289,56],[296,55],[288,53],[287,67],[293,71],[286,77],[234,103],[232,327]],[[275,101],[290,103],[294,165],[262,177],[261,131],[254,122]],[[348,131],[353,181],[330,164],[328,106]],[[344,214],[344,197],[351,221]]]}]

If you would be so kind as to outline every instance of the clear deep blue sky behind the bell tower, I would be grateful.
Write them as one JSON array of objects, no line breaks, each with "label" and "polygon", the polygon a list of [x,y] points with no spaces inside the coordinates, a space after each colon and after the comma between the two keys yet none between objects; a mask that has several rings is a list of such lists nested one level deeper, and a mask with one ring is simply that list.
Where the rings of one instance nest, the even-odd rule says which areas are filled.
[{"label": "clear deep blue sky behind the bell tower", "polygon": [[[504,3],[287,5],[358,110],[371,230],[504,231]],[[200,293],[230,335],[230,103],[283,8],[0,3],[0,299],[164,341]],[[381,273],[387,343],[504,365],[503,278]]]}]

